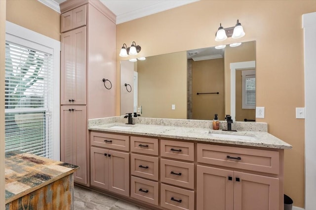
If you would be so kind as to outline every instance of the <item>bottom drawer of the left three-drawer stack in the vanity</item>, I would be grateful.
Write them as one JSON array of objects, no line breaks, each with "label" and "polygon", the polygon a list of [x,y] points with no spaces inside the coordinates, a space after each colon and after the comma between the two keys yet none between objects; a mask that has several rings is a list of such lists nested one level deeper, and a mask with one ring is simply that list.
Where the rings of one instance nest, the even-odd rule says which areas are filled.
[{"label": "bottom drawer of the left three-drawer stack in the vanity", "polygon": [[157,181],[144,180],[137,177],[130,179],[130,196],[158,206],[159,184]]}]

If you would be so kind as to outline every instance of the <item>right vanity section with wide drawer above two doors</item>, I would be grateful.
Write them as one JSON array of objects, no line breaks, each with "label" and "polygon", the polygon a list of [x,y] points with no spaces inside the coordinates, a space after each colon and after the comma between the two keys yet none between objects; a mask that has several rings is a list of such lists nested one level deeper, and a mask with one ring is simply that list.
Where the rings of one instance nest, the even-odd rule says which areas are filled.
[{"label": "right vanity section with wide drawer above two doors", "polygon": [[277,151],[197,144],[197,161],[229,167],[197,165],[198,210],[279,209],[283,191],[278,175],[273,175],[280,172]]}]

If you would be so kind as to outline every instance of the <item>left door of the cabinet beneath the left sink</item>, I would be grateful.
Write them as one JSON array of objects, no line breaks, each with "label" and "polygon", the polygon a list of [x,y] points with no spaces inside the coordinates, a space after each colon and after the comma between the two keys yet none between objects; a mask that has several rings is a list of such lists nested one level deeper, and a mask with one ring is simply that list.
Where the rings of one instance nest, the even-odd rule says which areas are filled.
[{"label": "left door of the cabinet beneath the left sink", "polygon": [[108,189],[109,187],[109,150],[91,147],[90,167],[91,185]]}]

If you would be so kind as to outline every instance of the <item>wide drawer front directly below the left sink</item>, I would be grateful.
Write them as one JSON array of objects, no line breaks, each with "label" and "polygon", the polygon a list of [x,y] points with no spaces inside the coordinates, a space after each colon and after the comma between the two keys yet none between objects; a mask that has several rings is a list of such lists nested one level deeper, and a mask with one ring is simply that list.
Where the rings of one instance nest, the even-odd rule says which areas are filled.
[{"label": "wide drawer front directly below the left sink", "polygon": [[129,136],[91,132],[90,143],[92,146],[129,151]]}]

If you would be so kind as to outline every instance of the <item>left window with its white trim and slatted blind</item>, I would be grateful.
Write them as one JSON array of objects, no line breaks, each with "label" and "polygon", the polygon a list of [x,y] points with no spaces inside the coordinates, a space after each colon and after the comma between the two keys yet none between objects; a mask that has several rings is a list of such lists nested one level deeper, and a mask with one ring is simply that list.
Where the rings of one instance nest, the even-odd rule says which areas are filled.
[{"label": "left window with its white trim and slatted blind", "polygon": [[[58,41],[6,24],[5,151],[21,150],[59,160],[59,91],[54,82],[59,49],[49,46]],[[59,81],[59,73],[57,76]]]}]

